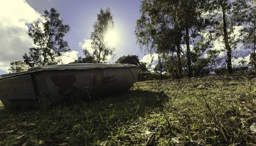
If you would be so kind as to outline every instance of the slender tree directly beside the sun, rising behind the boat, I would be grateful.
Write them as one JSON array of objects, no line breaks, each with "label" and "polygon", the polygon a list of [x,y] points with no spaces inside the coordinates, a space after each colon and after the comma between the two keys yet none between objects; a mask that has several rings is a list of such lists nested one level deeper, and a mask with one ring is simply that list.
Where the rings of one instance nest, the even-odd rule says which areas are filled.
[{"label": "slender tree directly beside the sun, rising behind the boat", "polygon": [[97,14],[97,21],[93,24],[93,31],[90,38],[92,40],[92,48],[94,49],[93,55],[96,57],[97,63],[105,62],[108,55],[113,55],[114,48],[107,46],[105,41],[105,34],[114,27],[113,15],[110,8],[100,9]]}]

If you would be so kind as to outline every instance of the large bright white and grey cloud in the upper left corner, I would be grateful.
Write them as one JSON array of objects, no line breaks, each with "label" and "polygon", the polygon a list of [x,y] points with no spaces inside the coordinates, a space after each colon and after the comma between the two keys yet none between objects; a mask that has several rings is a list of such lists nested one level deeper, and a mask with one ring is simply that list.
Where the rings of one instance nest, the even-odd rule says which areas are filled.
[{"label": "large bright white and grey cloud in the upper left corner", "polygon": [[34,20],[41,20],[40,13],[25,0],[0,0],[0,70],[8,71],[34,46],[26,26]]}]

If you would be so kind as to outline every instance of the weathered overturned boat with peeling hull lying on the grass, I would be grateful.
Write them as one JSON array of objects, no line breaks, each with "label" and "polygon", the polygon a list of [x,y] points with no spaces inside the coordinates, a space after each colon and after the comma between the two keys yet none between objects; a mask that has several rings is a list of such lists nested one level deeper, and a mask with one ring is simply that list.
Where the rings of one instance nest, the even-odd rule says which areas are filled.
[{"label": "weathered overturned boat with peeling hull lying on the grass", "polygon": [[132,64],[38,66],[0,75],[0,100],[6,108],[45,109],[63,100],[127,91],[138,74],[139,68]]}]

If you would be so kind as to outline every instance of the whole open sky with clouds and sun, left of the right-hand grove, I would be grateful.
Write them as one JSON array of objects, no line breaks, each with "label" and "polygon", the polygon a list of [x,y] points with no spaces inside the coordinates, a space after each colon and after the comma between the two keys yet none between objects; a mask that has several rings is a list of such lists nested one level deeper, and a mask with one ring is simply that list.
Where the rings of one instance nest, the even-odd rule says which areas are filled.
[{"label": "whole open sky with clouds and sun, left of the right-hand grove", "polygon": [[[99,10],[110,7],[114,30],[111,46],[116,60],[123,55],[136,54],[144,62],[151,60],[140,51],[134,35],[136,20],[140,18],[140,0],[0,0],[0,74],[8,72],[12,61],[22,60],[24,53],[35,46],[28,37],[28,24],[40,19],[45,9],[55,8],[64,24],[70,25],[66,34],[71,51],[62,57],[70,63],[83,56],[83,48],[90,46],[90,33]],[[156,57],[155,57],[156,58]]]}]

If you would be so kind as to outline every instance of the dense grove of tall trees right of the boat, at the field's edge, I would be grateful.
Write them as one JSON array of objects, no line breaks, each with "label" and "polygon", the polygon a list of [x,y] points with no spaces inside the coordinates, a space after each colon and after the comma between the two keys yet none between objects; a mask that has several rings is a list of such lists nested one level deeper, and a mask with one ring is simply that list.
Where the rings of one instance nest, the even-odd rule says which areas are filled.
[{"label": "dense grove of tall trees right of the boat, at the field's edge", "polygon": [[[254,0],[143,0],[137,44],[159,54],[157,70],[175,78],[232,74],[232,58],[249,54],[255,70],[255,9]],[[238,26],[242,29],[235,34]],[[247,49],[243,54],[234,52],[239,44]]]}]

